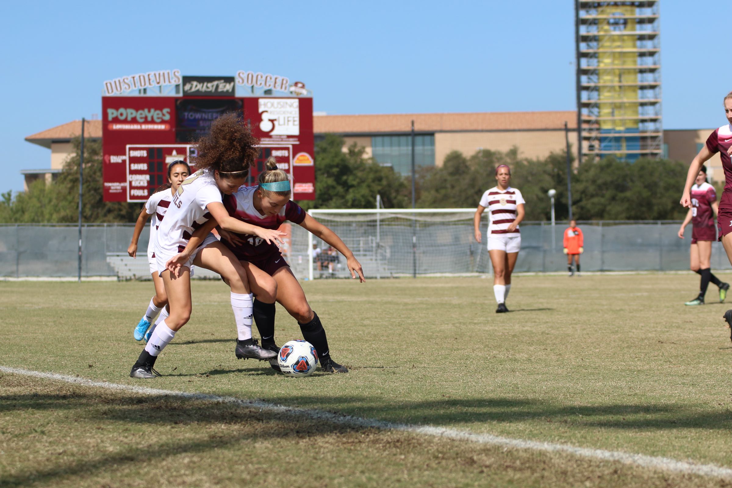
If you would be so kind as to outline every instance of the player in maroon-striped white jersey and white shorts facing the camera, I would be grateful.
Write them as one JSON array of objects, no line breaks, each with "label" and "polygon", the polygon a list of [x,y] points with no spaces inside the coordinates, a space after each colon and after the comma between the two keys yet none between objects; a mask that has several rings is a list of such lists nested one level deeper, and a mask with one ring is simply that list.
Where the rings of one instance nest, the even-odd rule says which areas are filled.
[{"label": "player in maroon-striped white jersey and white shorts facing the camera", "polygon": [[475,211],[473,226],[475,240],[482,242],[480,216],[488,209],[488,254],[493,264],[493,294],[498,308],[496,313],[508,312],[506,299],[511,290],[511,274],[521,249],[521,234],[518,228],[523,220],[523,196],[518,189],[509,185],[511,169],[507,165],[496,168],[497,185],[486,190]]}]

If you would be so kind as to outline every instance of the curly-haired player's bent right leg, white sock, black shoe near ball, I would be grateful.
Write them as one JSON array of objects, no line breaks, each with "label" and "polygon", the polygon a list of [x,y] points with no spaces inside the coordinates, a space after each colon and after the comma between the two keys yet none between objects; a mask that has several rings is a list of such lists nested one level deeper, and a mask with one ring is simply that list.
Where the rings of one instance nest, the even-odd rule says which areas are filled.
[{"label": "curly-haired player's bent right leg, white sock, black shoe near ball", "polygon": [[234,312],[237,336],[234,348],[236,358],[264,361],[277,357],[277,353],[261,348],[252,337],[252,294],[247,271],[244,271],[234,253],[224,244],[215,241],[199,250],[193,263],[220,274],[231,288],[231,310]]}]

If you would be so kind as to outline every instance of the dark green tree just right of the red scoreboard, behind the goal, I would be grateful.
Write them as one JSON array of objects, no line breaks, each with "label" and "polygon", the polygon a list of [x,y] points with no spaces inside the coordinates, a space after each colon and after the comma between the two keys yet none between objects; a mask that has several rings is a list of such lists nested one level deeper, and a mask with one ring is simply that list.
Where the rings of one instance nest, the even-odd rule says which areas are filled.
[{"label": "dark green tree just right of the red scoreboard, behind the goal", "polygon": [[405,179],[356,145],[343,151],[343,138],[328,134],[315,144],[315,201],[299,202],[305,209],[370,209],[376,195],[386,208],[407,205]]}]

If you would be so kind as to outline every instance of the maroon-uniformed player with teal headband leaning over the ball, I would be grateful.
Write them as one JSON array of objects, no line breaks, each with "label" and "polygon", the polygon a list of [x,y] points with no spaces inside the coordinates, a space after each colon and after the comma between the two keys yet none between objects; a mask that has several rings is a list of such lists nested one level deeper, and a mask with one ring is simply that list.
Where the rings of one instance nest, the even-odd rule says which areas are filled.
[{"label": "maroon-uniformed player with teal headband leaning over the ball", "polygon": [[[266,170],[259,174],[258,182],[258,186],[241,187],[233,195],[226,195],[224,203],[230,215],[242,222],[273,230],[280,228],[285,220],[300,225],[346,256],[346,266],[351,271],[352,278],[355,279],[358,274],[360,282],[366,281],[361,264],[340,237],[290,200],[291,181],[288,173],[277,169],[275,158],[267,159]],[[194,239],[203,239],[205,233],[206,229],[203,228],[194,234],[189,243],[190,249],[185,252],[193,250],[196,245]],[[305,291],[277,245],[251,233],[225,230],[222,241],[247,270],[247,277],[256,296],[253,312],[261,334],[262,347],[275,353],[280,350],[275,344],[275,301],[278,301],[297,320],[303,339],[315,348],[321,361],[321,369],[325,372],[348,372],[348,368],[333,361],[321,320],[307,303]],[[273,361],[270,364],[275,367],[276,361]]]}]

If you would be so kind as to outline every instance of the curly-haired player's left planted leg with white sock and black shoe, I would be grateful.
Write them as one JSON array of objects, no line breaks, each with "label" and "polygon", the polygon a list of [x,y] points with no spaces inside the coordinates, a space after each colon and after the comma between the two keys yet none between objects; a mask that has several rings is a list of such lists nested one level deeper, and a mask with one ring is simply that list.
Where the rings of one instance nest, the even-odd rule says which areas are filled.
[{"label": "curly-haired player's left planted leg with white sock and black shoe", "polygon": [[165,292],[168,295],[168,304],[171,307],[171,314],[157,324],[145,349],[132,366],[130,376],[132,378],[155,378],[160,373],[155,371],[154,364],[157,356],[163,352],[168,343],[173,340],[176,332],[190,319],[190,269],[182,266],[180,275],[174,276],[171,271],[163,271],[163,283]]}]

